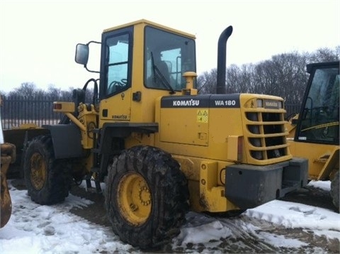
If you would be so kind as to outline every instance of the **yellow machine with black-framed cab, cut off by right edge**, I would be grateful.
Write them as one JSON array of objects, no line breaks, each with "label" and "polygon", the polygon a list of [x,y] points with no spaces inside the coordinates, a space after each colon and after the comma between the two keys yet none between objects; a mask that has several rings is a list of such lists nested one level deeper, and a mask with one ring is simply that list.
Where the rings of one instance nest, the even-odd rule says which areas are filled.
[{"label": "yellow machine with black-framed cab, cut off by right edge", "polygon": [[290,152],[309,160],[310,180],[331,180],[339,211],[339,61],[307,65],[300,113],[288,124]]}]

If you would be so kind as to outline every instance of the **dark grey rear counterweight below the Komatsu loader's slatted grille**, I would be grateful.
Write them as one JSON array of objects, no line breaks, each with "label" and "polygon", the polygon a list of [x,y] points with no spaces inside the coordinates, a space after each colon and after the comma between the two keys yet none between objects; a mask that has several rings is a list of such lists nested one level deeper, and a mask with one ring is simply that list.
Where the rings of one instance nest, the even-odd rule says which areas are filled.
[{"label": "dark grey rear counterweight below the Komatsu loader's slatted grille", "polygon": [[231,165],[225,174],[225,197],[249,209],[307,185],[308,160],[293,158],[273,165]]}]

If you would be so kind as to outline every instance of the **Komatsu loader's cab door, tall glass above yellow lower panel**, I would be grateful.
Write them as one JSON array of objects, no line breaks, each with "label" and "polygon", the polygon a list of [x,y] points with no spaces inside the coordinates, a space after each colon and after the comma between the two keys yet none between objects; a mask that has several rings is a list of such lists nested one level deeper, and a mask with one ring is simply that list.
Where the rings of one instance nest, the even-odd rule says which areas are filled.
[{"label": "Komatsu loader's cab door, tall glass above yellow lower panel", "polygon": [[103,33],[101,50],[101,126],[130,121],[133,26]]}]

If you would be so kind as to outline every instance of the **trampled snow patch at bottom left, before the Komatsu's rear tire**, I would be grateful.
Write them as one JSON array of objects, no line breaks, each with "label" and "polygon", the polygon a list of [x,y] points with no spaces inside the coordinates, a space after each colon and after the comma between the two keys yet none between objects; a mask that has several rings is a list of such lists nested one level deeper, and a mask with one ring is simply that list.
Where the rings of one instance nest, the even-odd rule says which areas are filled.
[{"label": "trampled snow patch at bottom left, before the Komatsu's rear tire", "polygon": [[40,206],[26,190],[11,188],[11,219],[0,229],[0,253],[96,253],[129,246],[111,237],[111,229],[91,224],[69,213],[92,201],[69,194],[62,204]]}]

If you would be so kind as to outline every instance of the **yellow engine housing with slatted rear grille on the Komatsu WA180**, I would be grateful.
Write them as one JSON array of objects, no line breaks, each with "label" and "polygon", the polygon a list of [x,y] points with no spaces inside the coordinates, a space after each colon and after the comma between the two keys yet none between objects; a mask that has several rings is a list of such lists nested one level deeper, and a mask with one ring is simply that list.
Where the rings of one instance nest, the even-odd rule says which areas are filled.
[{"label": "yellow engine housing with slatted rear grille on the Komatsu WA180", "polygon": [[[276,96],[263,96],[254,94],[242,94],[240,106],[234,108],[199,107],[199,97],[191,96],[188,105],[195,107],[177,108],[177,101],[171,101],[174,107],[162,107],[162,97],[157,99],[155,106],[155,121],[159,123],[159,132],[154,134],[154,146],[166,150],[180,163],[181,170],[188,179],[191,193],[191,207],[195,211],[229,211],[238,207],[225,197],[225,167],[234,163],[248,163],[254,165],[268,165],[288,160],[288,155],[280,158],[266,158],[255,160],[249,153],[249,142],[244,138],[244,133],[251,138],[251,132],[247,124],[266,124],[264,119],[259,121],[244,121],[247,112],[257,112],[254,99],[268,99],[282,101]],[[273,114],[278,109],[260,109]],[[285,130],[282,111],[277,125],[282,129],[280,135],[285,138]],[[279,111],[279,112],[280,112]],[[267,120],[268,121],[268,120]],[[268,122],[267,122],[268,123]],[[263,131],[262,131],[263,133]],[[261,135],[260,135],[261,136]],[[268,134],[263,134],[263,139]],[[126,143],[125,143],[126,144]],[[129,143],[129,145],[137,145]],[[259,150],[266,150],[262,145]],[[288,150],[283,143],[283,149]],[[263,153],[263,151],[261,151]],[[198,197],[199,193],[199,197]]]}]

